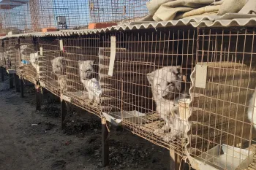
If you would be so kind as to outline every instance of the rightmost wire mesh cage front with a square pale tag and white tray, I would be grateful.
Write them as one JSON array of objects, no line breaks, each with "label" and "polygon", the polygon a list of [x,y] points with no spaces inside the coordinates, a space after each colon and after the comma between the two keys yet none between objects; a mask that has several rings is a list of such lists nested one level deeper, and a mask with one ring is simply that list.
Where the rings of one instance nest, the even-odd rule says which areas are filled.
[{"label": "rightmost wire mesh cage front with a square pale tag and white tray", "polygon": [[198,31],[188,146],[194,167],[203,162],[206,169],[245,169],[252,163],[254,45],[254,28]]}]

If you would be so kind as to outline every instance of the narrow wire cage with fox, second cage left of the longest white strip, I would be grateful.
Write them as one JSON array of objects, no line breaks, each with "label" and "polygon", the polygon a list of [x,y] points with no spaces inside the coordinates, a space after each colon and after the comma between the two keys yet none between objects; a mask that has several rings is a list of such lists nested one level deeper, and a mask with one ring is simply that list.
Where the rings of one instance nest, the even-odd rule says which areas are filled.
[{"label": "narrow wire cage with fox, second cage left of the longest white strip", "polygon": [[[66,60],[58,37],[38,38],[39,82],[56,96],[65,87]],[[62,44],[63,45],[63,44]]]}]

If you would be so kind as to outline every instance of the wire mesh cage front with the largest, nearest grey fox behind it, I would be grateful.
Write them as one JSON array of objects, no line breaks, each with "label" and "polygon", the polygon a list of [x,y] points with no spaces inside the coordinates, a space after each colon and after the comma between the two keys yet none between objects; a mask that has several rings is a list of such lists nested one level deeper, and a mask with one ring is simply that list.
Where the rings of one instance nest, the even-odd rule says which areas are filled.
[{"label": "wire mesh cage front with the largest, nearest grey fox behind it", "polygon": [[187,120],[179,105],[189,98],[195,30],[147,29],[103,39],[102,112],[121,119],[138,136],[183,154]]}]

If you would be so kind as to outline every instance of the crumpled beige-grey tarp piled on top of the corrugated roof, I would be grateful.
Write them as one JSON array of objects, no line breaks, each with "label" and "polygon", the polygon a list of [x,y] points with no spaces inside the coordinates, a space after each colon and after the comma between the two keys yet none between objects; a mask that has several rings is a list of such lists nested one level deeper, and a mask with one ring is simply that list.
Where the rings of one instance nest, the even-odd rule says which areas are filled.
[{"label": "crumpled beige-grey tarp piled on top of the corrugated roof", "polygon": [[151,0],[147,7],[149,14],[143,21],[167,21],[237,12],[253,14],[256,0]]}]

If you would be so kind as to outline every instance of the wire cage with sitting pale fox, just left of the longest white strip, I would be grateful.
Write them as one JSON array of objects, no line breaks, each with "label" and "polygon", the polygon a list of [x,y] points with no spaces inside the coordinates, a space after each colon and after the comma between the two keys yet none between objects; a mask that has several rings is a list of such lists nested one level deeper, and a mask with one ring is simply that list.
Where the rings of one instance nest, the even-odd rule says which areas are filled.
[{"label": "wire cage with sitting pale fox, just left of the longest white strip", "polygon": [[63,40],[67,64],[64,96],[72,104],[100,115],[99,35],[71,36]]}]

